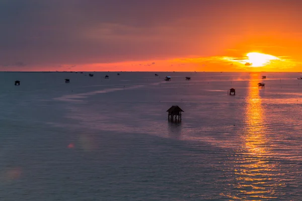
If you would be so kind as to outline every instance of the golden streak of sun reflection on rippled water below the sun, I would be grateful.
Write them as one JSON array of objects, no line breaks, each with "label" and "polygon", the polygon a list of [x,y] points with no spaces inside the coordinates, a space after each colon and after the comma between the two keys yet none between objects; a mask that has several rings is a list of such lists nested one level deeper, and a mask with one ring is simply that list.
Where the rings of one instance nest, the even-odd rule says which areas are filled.
[{"label": "golden streak of sun reflection on rippled water below the sun", "polygon": [[235,167],[237,194],[248,200],[271,199],[274,189],[280,183],[272,182],[276,167],[270,162],[272,153],[269,149],[265,127],[265,111],[261,104],[257,80],[258,74],[251,75],[245,108],[245,128],[242,133],[243,146],[239,161]]}]

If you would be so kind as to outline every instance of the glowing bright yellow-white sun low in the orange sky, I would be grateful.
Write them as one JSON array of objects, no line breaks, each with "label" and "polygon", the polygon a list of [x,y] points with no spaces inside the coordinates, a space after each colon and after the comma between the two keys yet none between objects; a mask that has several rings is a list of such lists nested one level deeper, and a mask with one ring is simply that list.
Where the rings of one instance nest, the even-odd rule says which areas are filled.
[{"label": "glowing bright yellow-white sun low in the orange sky", "polygon": [[262,54],[257,52],[250,52],[247,54],[248,59],[243,60],[246,66],[261,67],[271,63],[272,60],[280,60],[278,57]]}]

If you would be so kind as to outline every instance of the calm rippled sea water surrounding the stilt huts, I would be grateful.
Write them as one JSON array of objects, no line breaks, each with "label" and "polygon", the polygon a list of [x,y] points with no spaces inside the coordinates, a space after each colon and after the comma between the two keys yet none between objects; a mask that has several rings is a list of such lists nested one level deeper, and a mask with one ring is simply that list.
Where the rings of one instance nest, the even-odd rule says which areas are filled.
[{"label": "calm rippled sea water surrounding the stilt huts", "polygon": [[85,74],[0,73],[0,200],[301,200],[300,73]]}]

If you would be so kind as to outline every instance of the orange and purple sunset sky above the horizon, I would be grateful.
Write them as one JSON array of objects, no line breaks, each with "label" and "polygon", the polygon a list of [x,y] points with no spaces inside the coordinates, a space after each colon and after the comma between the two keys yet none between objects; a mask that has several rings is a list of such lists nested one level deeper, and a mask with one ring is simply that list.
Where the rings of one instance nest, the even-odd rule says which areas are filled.
[{"label": "orange and purple sunset sky above the horizon", "polygon": [[299,72],[301,10],[301,0],[1,0],[0,70]]}]

